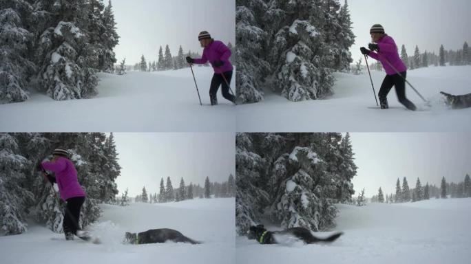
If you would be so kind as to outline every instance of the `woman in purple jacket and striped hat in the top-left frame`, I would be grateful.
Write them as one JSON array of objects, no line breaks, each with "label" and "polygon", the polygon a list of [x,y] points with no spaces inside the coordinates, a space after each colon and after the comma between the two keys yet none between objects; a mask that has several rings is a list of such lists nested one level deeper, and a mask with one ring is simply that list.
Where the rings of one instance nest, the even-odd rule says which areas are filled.
[{"label": "woman in purple jacket and striped hat in the top-left frame", "polygon": [[[229,93],[229,83],[231,83],[233,67],[229,61],[231,50],[221,41],[211,39],[211,35],[202,31],[198,35],[201,47],[204,47],[201,58],[187,57],[188,63],[205,64],[207,61],[211,63],[214,69],[213,79],[211,80],[211,88],[209,89],[209,98],[211,105],[218,104],[218,89],[222,85],[222,96],[231,102],[235,102],[235,96]],[[225,80],[224,80],[225,78]]]}]

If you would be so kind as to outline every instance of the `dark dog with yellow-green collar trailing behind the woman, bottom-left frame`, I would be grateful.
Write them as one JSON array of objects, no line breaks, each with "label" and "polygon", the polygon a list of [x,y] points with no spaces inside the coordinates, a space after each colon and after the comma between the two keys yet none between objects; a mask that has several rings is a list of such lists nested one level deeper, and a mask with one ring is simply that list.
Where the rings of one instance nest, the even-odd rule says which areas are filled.
[{"label": "dark dog with yellow-green collar trailing behind the woman, bottom-left frame", "polygon": [[149,243],[165,243],[166,241],[183,242],[191,244],[200,244],[199,241],[194,241],[184,236],[177,230],[169,228],[150,229],[140,233],[126,232],[125,243],[131,244],[149,244]]}]

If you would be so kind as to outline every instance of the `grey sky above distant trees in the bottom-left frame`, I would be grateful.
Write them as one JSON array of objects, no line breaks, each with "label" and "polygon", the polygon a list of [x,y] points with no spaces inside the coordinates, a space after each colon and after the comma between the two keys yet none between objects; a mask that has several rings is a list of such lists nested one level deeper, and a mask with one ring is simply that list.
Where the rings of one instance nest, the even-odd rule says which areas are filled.
[{"label": "grey sky above distant trees in the bottom-left frame", "polygon": [[204,186],[210,181],[227,181],[235,176],[235,133],[113,133],[118,162],[123,167],[116,179],[120,194],[158,193],[160,178],[170,177],[178,188],[185,184]]}]

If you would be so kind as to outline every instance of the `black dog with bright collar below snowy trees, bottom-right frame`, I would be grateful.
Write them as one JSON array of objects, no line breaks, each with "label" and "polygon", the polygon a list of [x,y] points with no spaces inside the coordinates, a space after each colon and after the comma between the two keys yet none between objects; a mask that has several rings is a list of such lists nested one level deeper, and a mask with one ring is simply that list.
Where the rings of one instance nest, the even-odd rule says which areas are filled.
[{"label": "black dog with bright collar below snowy trees, bottom-right frame", "polygon": [[249,239],[257,239],[258,243],[260,244],[278,244],[278,241],[275,239],[275,235],[292,235],[304,241],[306,244],[313,244],[317,242],[332,242],[335,239],[338,239],[343,233],[335,233],[331,236],[328,236],[324,239],[319,237],[313,236],[311,231],[307,230],[306,228],[288,228],[283,231],[268,231],[266,230],[263,225],[251,226],[248,232]]}]

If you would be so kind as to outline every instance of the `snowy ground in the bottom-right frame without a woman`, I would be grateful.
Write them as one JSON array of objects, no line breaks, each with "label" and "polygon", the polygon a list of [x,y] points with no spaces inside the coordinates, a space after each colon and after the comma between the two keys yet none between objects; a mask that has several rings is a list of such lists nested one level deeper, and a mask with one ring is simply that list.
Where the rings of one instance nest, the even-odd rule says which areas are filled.
[{"label": "snowy ground in the bottom-right frame without a woman", "polygon": [[[468,263],[471,198],[338,205],[331,244],[260,245],[238,236],[237,263]],[[322,233],[319,233],[322,236]]]}]

